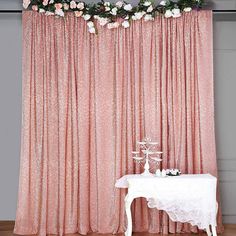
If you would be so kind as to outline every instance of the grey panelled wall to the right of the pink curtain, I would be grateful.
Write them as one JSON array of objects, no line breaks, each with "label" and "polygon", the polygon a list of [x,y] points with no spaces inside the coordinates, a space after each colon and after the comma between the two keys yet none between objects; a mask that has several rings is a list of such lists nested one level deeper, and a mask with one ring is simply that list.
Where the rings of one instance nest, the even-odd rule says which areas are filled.
[{"label": "grey panelled wall to the right of the pink curtain", "polygon": [[224,221],[236,223],[236,13],[214,21],[216,144]]}]

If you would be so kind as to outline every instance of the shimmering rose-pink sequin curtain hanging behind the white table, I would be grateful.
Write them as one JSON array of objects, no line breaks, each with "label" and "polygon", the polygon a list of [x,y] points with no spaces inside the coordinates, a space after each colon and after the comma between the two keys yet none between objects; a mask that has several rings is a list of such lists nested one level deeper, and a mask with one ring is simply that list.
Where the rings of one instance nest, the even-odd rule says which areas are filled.
[{"label": "shimmering rose-pink sequin curtain hanging behind the white table", "polygon": [[[164,168],[217,174],[212,13],[98,32],[72,14],[23,13],[17,234],[124,232],[115,181],[140,171],[131,151],[144,136],[160,141]],[[133,219],[134,231],[196,231],[140,199]]]}]

